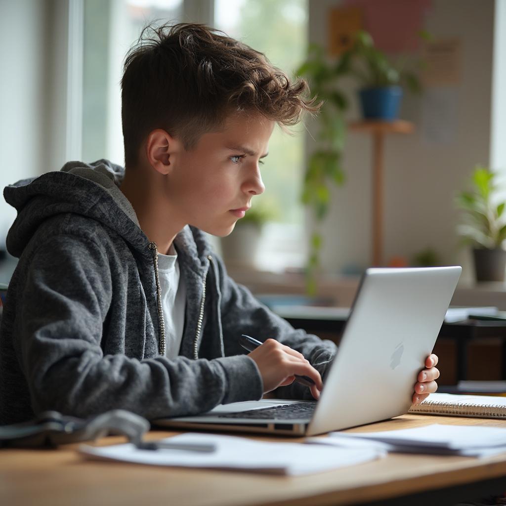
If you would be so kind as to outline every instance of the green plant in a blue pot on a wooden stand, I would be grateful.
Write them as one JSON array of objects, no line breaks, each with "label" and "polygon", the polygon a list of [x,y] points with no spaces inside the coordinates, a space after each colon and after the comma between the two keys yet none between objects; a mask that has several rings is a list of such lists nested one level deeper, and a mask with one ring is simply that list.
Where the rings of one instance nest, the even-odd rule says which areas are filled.
[{"label": "green plant in a blue pot on a wooden stand", "polygon": [[[421,35],[427,38],[425,32]],[[403,88],[413,93],[421,91],[418,75],[406,68],[407,61],[394,63],[374,46],[372,37],[365,31],[356,33],[355,43],[343,54],[342,60],[361,86],[359,97],[364,118],[397,119]]]}]

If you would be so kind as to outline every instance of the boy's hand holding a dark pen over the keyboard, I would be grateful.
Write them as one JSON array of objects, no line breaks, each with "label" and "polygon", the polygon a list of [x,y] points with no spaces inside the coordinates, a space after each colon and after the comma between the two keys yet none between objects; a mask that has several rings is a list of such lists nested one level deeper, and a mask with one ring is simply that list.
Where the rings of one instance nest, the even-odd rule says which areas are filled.
[{"label": "boy's hand holding a dark pen over the keyboard", "polygon": [[249,353],[255,360],[264,382],[264,393],[278,387],[290,385],[294,374],[309,376],[315,384],[311,393],[315,399],[320,397],[323,388],[320,373],[304,358],[302,353],[284,346],[275,339],[267,339],[262,346]]}]

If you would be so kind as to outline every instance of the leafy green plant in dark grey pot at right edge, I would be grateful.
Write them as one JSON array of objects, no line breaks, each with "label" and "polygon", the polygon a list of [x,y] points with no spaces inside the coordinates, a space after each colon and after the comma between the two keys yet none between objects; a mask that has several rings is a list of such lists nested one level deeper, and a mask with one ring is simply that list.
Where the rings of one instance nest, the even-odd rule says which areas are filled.
[{"label": "leafy green plant in dark grey pot at right edge", "polygon": [[504,281],[506,216],[498,201],[495,174],[477,165],[471,177],[471,190],[460,192],[456,205],[462,212],[457,231],[465,244],[473,246],[477,281]]}]

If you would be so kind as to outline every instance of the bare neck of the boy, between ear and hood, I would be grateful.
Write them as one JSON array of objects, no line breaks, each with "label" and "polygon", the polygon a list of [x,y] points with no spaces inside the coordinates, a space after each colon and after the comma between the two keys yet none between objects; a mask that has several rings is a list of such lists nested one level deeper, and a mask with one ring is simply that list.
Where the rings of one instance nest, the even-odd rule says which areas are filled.
[{"label": "bare neck of the boy, between ear and hood", "polygon": [[156,242],[158,252],[166,255],[184,224],[177,225],[169,220],[172,213],[163,198],[163,187],[154,181],[155,178],[156,174],[150,174],[145,167],[125,167],[119,189],[132,204],[142,231],[151,242]]}]

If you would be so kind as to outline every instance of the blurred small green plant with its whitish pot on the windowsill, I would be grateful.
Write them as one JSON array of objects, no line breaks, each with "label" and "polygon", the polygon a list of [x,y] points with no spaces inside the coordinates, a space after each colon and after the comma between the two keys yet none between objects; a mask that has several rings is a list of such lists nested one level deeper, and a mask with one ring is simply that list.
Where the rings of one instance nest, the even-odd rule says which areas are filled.
[{"label": "blurred small green plant with its whitish pot on the windowsill", "polygon": [[254,205],[235,224],[231,234],[221,238],[223,259],[227,267],[254,268],[264,225],[275,214],[267,207]]}]

